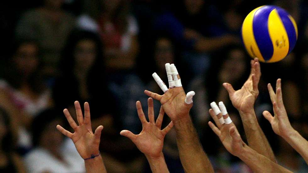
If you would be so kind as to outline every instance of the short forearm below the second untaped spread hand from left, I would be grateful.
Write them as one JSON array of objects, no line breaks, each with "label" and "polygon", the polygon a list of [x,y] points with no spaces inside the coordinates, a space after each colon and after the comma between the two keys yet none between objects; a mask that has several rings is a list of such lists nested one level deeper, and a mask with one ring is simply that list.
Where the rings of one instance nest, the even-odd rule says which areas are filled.
[{"label": "short forearm below the second untaped spread hand from left", "polygon": [[146,155],[146,159],[148,160],[153,173],[169,173],[163,154],[158,158]]}]

